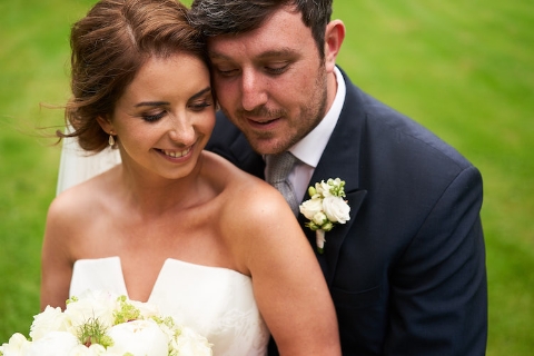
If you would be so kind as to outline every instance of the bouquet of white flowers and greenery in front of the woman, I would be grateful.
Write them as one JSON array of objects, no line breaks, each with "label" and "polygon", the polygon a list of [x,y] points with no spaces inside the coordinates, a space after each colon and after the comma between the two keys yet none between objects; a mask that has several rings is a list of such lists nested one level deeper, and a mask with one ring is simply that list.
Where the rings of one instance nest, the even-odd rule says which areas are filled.
[{"label": "bouquet of white flowers and greenery in front of the woman", "polygon": [[162,317],[147,303],[103,291],[48,306],[33,317],[30,339],[14,334],[0,356],[210,356],[211,344],[192,329]]}]

